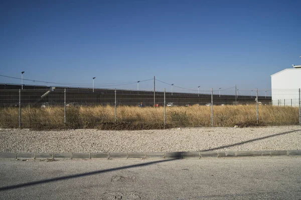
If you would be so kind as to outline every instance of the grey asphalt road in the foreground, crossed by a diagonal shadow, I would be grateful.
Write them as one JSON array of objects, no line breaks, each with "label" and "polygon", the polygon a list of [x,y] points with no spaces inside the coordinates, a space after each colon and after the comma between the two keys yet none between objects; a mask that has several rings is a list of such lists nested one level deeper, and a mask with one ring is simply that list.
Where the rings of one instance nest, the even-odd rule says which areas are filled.
[{"label": "grey asphalt road in the foreground, crossed by a diagonal shadow", "polygon": [[301,199],[301,157],[0,161],[1,199]]}]

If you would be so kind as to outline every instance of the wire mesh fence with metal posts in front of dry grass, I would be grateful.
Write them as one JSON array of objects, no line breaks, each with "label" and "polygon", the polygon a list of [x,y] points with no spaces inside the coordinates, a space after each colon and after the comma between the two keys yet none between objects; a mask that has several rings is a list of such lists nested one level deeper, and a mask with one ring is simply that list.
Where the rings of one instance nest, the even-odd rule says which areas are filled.
[{"label": "wire mesh fence with metal posts in front of dry grass", "polygon": [[300,89],[1,89],[2,128],[301,125]]}]

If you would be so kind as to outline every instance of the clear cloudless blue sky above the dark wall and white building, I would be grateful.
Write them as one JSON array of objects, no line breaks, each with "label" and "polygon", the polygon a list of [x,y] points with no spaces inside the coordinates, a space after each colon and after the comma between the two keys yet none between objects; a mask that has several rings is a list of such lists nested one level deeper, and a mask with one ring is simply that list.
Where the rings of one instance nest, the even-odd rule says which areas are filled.
[{"label": "clear cloudless blue sky above the dark wall and white building", "polygon": [[301,64],[300,8],[300,0],[2,0],[0,74],[268,89],[271,74]]}]

